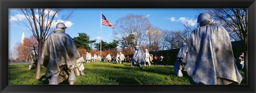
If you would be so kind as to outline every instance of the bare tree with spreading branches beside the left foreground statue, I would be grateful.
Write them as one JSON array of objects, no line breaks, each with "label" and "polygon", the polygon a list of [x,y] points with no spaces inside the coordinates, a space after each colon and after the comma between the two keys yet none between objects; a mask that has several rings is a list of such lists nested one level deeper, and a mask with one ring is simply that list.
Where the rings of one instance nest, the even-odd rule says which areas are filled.
[{"label": "bare tree with spreading branches beside the left foreground statue", "polygon": [[[48,35],[52,25],[58,21],[54,21],[55,16],[61,13],[63,9],[60,8],[19,8],[18,9],[26,17],[26,21],[21,21],[17,18],[17,23],[27,27],[35,36],[38,41],[38,59],[41,59],[42,47]],[[71,17],[73,12],[65,13],[60,16],[65,23],[68,18]],[[37,62],[36,67],[36,79],[40,77],[41,64]]]}]

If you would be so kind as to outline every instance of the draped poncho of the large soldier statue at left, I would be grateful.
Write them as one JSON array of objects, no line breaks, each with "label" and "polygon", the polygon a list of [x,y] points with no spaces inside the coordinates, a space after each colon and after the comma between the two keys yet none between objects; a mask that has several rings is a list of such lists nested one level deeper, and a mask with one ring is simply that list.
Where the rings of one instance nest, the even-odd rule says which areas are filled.
[{"label": "draped poncho of the large soldier statue at left", "polygon": [[48,36],[42,51],[41,64],[47,67],[46,77],[52,76],[61,69],[59,66],[66,65],[68,69],[75,68],[77,50],[72,38],[63,33],[61,29]]}]

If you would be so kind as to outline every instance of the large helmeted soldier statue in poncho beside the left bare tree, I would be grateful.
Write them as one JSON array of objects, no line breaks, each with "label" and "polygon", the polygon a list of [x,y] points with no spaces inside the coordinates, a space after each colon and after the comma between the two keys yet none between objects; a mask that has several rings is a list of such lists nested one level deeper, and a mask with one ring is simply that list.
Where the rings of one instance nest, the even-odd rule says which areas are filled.
[{"label": "large helmeted soldier statue in poncho beside the left bare tree", "polygon": [[44,43],[41,59],[38,59],[46,67],[46,77],[51,78],[49,85],[58,85],[67,78],[70,85],[76,81],[74,68],[78,55],[72,38],[65,33],[66,28],[63,23],[57,24]]}]

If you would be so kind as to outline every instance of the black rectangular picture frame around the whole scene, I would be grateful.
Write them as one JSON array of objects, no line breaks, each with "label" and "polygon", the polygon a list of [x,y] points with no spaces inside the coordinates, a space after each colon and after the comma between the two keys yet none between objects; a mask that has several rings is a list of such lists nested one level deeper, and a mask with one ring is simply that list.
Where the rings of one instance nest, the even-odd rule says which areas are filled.
[{"label": "black rectangular picture frame around the whole scene", "polygon": [[[1,92],[255,92],[255,0],[0,0]],[[8,85],[9,8],[248,8],[248,85]]]}]

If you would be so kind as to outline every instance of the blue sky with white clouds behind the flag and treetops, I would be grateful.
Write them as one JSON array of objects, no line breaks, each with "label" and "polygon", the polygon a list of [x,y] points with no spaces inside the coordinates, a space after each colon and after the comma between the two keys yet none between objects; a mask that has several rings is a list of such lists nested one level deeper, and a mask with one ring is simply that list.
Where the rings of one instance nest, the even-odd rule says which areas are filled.
[{"label": "blue sky with white clouds behind the flag and treetops", "polygon": [[[90,40],[97,39],[97,43],[100,41],[100,30],[103,41],[109,43],[114,40],[115,29],[100,24],[101,12],[114,26],[118,18],[133,14],[147,17],[149,22],[159,29],[175,31],[183,30],[184,22],[197,26],[196,21],[199,15],[195,8],[66,8],[65,11],[74,11],[72,17],[65,23],[66,33],[71,38],[77,37],[78,33],[86,33],[90,36]],[[62,13],[67,13],[65,11]],[[33,35],[25,26],[17,24],[13,16],[25,20],[19,11],[9,9],[9,52],[14,50],[16,43],[21,42],[22,33],[25,33],[25,38]],[[57,16],[54,21],[60,20],[59,18],[60,16]]]}]

